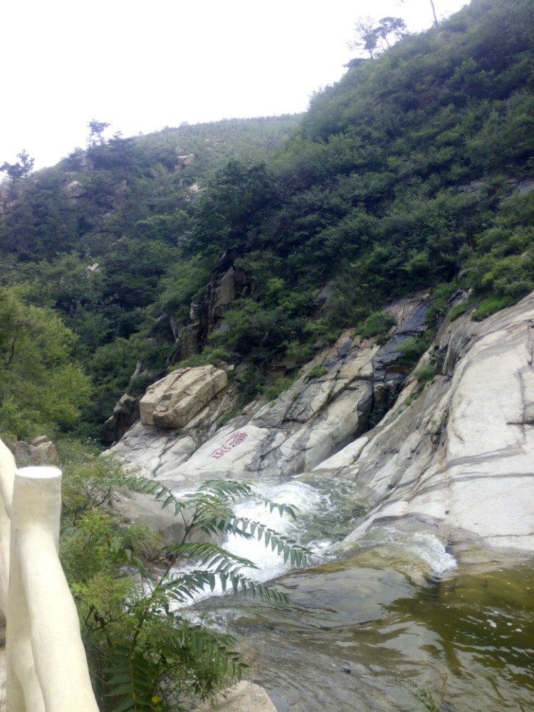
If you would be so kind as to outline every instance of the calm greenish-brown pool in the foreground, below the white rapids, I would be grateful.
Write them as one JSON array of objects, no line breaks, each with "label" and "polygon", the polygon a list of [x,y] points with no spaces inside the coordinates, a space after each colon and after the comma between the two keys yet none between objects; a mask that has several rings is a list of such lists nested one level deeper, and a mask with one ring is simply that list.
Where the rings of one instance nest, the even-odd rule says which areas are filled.
[{"label": "calm greenish-brown pool in the foreground, below the white rapids", "polygon": [[532,562],[424,582],[418,567],[365,550],[283,577],[290,609],[219,599],[211,612],[279,712],[424,709],[412,696],[424,688],[442,711],[532,710]]}]

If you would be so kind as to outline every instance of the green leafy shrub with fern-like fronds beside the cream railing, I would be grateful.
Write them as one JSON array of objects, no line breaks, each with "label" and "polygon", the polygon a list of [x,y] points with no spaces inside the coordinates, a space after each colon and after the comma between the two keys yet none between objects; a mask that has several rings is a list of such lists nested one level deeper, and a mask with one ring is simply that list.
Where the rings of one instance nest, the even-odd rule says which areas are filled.
[{"label": "green leafy shrub with fern-like fronds beside the cream railing", "polygon": [[[253,562],[226,551],[217,540],[230,534],[256,539],[295,567],[310,563],[310,551],[234,513],[237,501],[254,496],[247,484],[209,481],[178,499],[147,478],[100,477],[100,483],[93,477],[91,491],[127,487],[151,494],[163,508],[172,507],[183,525],[179,541],[162,545],[145,528],[125,527],[100,507],[81,517],[78,513],[75,527],[63,531],[62,560],[78,604],[101,709],[164,712],[182,709],[192,698],[212,698],[221,687],[241,679],[246,664],[229,634],[193,624],[183,614],[183,605],[202,590],[213,592],[218,583],[234,595],[288,603],[285,593],[244,573],[244,568],[257,568]],[[295,508],[285,503],[265,500],[265,505],[271,513],[296,517]],[[179,565],[187,569],[177,573]]]}]

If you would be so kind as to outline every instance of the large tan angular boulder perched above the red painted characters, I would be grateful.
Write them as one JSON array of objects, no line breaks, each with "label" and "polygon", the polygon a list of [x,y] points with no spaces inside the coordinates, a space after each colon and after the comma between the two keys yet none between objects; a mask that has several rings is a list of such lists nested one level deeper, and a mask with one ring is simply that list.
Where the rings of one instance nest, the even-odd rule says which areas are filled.
[{"label": "large tan angular boulder perched above the red painted characters", "polygon": [[148,387],[140,399],[143,425],[182,428],[228,385],[226,371],[214,366],[181,368]]}]

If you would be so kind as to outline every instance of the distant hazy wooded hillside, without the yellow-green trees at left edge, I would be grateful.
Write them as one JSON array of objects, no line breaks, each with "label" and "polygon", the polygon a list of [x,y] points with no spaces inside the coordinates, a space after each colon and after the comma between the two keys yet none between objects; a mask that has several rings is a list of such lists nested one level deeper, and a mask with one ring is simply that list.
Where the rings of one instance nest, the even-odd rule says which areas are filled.
[{"label": "distant hazy wooded hillside, without the yellow-green trees at left edge", "polygon": [[[78,400],[80,434],[100,439],[137,360],[164,372],[168,347],[146,339],[152,316],[162,309],[187,319],[213,262],[186,256],[201,185],[230,157],[268,157],[297,122],[226,120],[137,138],[97,136],[56,167],[28,176],[23,166],[16,179],[6,172],[0,284],[23,282],[29,303],[52,308],[78,335],[73,356],[93,381],[90,404]],[[194,160],[181,165],[183,155]],[[3,422],[10,408],[7,402]],[[11,410],[4,431],[26,436],[28,426],[17,429]],[[29,427],[36,429],[51,428],[41,418]]]}]

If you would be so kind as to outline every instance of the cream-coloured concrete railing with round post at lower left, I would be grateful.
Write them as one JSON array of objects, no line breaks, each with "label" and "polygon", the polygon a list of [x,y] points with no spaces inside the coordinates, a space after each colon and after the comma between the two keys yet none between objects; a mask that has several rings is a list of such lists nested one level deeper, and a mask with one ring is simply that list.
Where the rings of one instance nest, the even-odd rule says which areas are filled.
[{"label": "cream-coloured concrete railing with round post at lower left", "polygon": [[0,441],[0,495],[6,712],[98,712],[58,559],[61,471],[17,469]]}]

